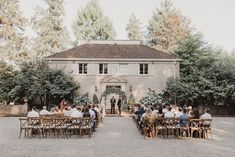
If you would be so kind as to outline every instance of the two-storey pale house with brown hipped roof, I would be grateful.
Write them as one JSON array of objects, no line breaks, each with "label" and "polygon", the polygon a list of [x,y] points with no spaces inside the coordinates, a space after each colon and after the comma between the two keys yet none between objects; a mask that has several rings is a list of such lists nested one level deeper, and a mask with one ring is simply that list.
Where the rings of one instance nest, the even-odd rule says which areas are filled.
[{"label": "two-storey pale house with brown hipped roof", "polygon": [[161,92],[168,78],[177,77],[180,59],[140,41],[90,41],[51,55],[47,61],[51,68],[63,69],[80,84],[79,94],[100,97],[114,87],[127,97],[132,93],[138,101],[148,88]]}]

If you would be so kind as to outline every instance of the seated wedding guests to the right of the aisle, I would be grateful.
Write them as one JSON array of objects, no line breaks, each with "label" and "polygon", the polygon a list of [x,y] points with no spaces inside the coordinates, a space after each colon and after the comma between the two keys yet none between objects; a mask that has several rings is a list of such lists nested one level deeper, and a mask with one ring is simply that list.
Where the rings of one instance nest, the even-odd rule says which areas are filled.
[{"label": "seated wedding guests to the right of the aisle", "polygon": [[196,107],[178,107],[176,105],[158,105],[145,108],[143,105],[137,104],[134,115],[140,121],[153,121],[157,117],[178,118],[180,126],[185,126],[189,119],[211,119],[209,108],[206,108],[204,114],[200,115]]}]

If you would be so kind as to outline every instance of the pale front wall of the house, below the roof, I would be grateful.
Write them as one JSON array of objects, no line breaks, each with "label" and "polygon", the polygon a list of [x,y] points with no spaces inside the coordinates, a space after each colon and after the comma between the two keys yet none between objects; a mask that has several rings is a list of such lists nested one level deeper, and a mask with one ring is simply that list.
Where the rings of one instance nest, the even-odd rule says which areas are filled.
[{"label": "pale front wall of the house, below the roof", "polygon": [[[78,74],[78,63],[88,63],[88,74]],[[138,101],[145,96],[148,88],[161,92],[169,77],[179,75],[179,62],[145,62],[148,63],[148,74],[139,74],[138,62],[128,63],[128,74],[119,73],[119,63],[108,63],[108,74],[99,73],[99,63],[107,62],[79,62],[79,61],[51,61],[51,68],[63,69],[67,74],[73,76],[74,80],[80,84],[79,94],[89,93],[91,99],[97,87],[97,96],[99,97],[105,90],[105,85],[120,85],[121,89],[130,94],[130,86],[135,99]],[[126,80],[123,82],[106,82],[101,83],[105,78],[114,77]]]}]

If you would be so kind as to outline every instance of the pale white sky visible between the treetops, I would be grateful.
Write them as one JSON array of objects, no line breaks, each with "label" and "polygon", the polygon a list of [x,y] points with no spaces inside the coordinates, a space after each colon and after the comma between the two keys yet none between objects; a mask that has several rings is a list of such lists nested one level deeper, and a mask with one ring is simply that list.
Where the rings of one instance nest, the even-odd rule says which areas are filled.
[{"label": "pale white sky visible between the treetops", "polygon": [[[44,0],[20,0],[20,9],[26,18],[31,18],[36,6],[43,6]],[[64,0],[65,25],[72,34],[71,26],[77,10],[88,0]],[[99,0],[105,15],[113,21],[116,39],[127,39],[125,30],[131,13],[148,25],[153,11],[161,0]],[[205,39],[226,51],[235,48],[235,0],[173,0],[175,7],[190,18],[192,27],[204,34]],[[144,30],[144,29],[143,29]]]}]

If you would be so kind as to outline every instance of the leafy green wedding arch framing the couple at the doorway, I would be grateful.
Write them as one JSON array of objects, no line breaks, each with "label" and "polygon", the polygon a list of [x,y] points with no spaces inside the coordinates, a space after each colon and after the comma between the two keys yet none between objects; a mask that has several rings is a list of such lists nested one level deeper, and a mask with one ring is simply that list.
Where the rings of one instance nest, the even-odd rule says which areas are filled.
[{"label": "leafy green wedding arch framing the couple at the doorway", "polygon": [[[127,107],[127,97],[126,97],[125,92],[123,92],[120,88],[115,88],[115,87],[106,88],[106,90],[101,94],[101,97],[100,97],[100,102],[102,100],[104,100],[103,103],[104,103],[105,113],[107,112],[107,110],[110,109],[110,108],[107,108],[107,104],[109,103],[109,100],[107,101],[107,97],[112,94],[116,94],[116,95],[118,95],[118,97],[121,97],[122,108]],[[117,97],[116,97],[116,100],[117,100]],[[116,105],[116,107],[117,107],[117,105]]]}]

